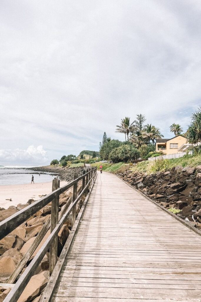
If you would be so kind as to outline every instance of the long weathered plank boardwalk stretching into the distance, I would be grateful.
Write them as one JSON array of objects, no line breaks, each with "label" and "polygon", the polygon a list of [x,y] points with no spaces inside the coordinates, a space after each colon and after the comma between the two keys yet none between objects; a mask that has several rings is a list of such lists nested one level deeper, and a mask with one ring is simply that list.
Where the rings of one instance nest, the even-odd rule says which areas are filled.
[{"label": "long weathered plank boardwalk stretching into the distance", "polygon": [[201,237],[98,173],[52,302],[201,301]]}]

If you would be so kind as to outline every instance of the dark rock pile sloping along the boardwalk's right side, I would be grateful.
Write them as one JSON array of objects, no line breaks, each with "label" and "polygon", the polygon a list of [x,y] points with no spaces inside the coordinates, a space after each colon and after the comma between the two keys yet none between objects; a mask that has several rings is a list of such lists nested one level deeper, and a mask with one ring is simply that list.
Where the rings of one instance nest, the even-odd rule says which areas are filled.
[{"label": "dark rock pile sloping along the boardwalk's right side", "polygon": [[127,170],[119,176],[165,208],[181,210],[177,216],[201,229],[201,165],[151,175]]}]

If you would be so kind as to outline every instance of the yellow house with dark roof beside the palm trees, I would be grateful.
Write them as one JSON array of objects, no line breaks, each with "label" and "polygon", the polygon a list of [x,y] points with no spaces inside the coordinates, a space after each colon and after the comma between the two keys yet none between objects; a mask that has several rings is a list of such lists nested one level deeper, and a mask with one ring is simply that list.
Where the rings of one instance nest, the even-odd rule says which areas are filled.
[{"label": "yellow house with dark roof beside the palm trees", "polygon": [[165,154],[181,153],[178,149],[187,143],[183,135],[177,135],[173,138],[162,138],[156,140],[156,151],[162,151]]}]

